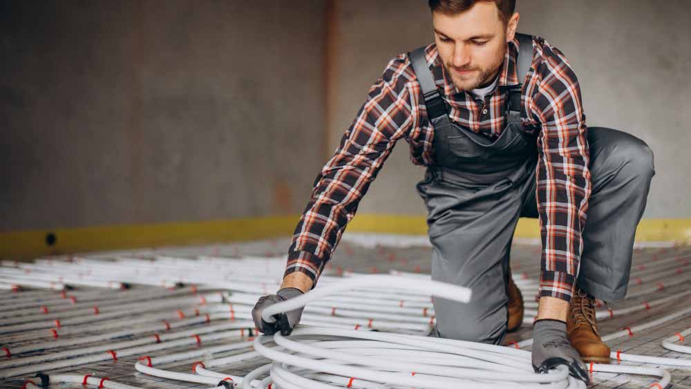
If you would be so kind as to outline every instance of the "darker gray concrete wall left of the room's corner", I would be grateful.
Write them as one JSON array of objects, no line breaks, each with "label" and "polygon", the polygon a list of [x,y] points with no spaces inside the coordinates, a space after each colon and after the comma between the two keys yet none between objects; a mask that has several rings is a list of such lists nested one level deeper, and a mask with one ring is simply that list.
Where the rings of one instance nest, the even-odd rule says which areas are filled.
[{"label": "darker gray concrete wall left of the room's corner", "polygon": [[323,164],[323,10],[1,1],[0,231],[301,211]]}]

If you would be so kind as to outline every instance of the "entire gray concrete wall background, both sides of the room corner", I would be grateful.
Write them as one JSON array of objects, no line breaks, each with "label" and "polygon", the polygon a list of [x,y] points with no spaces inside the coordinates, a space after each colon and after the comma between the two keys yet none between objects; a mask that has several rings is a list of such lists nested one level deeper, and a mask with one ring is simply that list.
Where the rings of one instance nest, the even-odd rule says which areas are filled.
[{"label": "entire gray concrete wall background, both sides of the room corner", "polygon": [[[691,217],[691,3],[518,10],[588,123],[656,152],[646,216]],[[424,0],[0,1],[0,231],[297,213],[388,60],[431,39]],[[401,142],[359,212],[424,214],[421,176]]]}]

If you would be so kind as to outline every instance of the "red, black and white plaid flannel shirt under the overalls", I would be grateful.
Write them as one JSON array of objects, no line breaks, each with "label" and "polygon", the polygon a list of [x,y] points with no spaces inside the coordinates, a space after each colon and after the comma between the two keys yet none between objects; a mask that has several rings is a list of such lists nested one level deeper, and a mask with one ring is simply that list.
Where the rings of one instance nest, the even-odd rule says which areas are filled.
[{"label": "red, black and white plaid flannel shirt under the overalls", "polygon": [[[435,83],[444,91],[451,120],[488,137],[497,137],[504,129],[507,87],[518,84],[518,40],[507,45],[498,86],[484,102],[455,88],[435,44],[426,47],[426,57]],[[533,61],[521,100],[524,129],[538,132],[540,296],[570,301],[591,191],[587,126],[574,71],[560,50],[540,37],[533,39]],[[303,272],[316,285],[345,225],[355,215],[359,200],[396,141],[405,139],[410,144],[414,164],[430,165],[435,160],[433,131],[408,55],[398,55],[372,85],[338,149],[316,178],[312,197],[292,238],[285,275]]]}]

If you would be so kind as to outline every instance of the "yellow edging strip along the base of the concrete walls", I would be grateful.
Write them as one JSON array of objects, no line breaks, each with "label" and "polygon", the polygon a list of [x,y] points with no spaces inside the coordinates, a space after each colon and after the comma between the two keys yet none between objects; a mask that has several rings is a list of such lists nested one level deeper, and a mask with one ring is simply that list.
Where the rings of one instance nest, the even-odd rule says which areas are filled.
[{"label": "yellow edging strip along the base of the concrete walls", "polygon": [[[51,254],[73,254],[140,247],[201,245],[290,236],[298,215],[238,218],[202,222],[172,222],[150,225],[114,225],[65,229],[41,229],[0,233],[0,258],[36,258]],[[359,214],[348,231],[379,234],[425,235],[424,216]],[[48,245],[48,234],[55,243]],[[536,219],[520,219],[516,238],[540,238]],[[638,242],[688,243],[691,219],[643,219],[636,231]],[[287,247],[284,247],[287,251]]]}]

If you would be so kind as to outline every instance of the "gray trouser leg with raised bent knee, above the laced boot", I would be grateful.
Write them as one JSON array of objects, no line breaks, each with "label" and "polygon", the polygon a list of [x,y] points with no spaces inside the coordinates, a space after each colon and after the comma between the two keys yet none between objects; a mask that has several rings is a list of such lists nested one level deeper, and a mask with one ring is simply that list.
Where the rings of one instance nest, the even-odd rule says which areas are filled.
[{"label": "gray trouser leg with raised bent knee, above the laced boot", "polygon": [[[591,196],[577,285],[603,301],[626,294],[636,226],[645,210],[653,155],[637,137],[590,127]],[[537,217],[534,193],[523,216]]]}]

